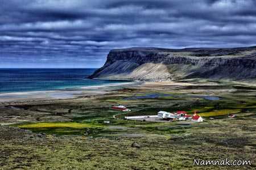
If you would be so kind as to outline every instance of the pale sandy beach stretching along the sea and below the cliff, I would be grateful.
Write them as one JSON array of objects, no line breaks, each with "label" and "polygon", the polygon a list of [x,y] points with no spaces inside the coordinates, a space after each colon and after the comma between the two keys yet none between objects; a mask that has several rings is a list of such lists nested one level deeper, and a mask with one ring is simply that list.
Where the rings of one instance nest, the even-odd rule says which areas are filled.
[{"label": "pale sandy beach stretching along the sea and below the cliff", "polygon": [[[224,84],[222,84],[224,83]],[[13,103],[26,103],[30,101],[54,101],[65,99],[78,99],[80,97],[89,97],[97,95],[107,95],[113,93],[115,90],[121,88],[137,88],[139,89],[162,89],[180,86],[222,86],[228,82],[212,82],[212,81],[195,81],[195,82],[122,82],[122,83],[107,83],[95,86],[72,87],[59,90],[46,90],[46,91],[24,91],[24,92],[6,92],[0,93],[0,106],[10,105]],[[230,82],[229,82],[230,83]],[[234,82],[232,84],[248,86],[245,82]],[[250,87],[255,88],[250,84]],[[235,90],[235,89],[234,89]],[[232,90],[232,91],[234,91]],[[200,91],[200,90],[194,90]],[[219,90],[219,91],[225,91]]]}]

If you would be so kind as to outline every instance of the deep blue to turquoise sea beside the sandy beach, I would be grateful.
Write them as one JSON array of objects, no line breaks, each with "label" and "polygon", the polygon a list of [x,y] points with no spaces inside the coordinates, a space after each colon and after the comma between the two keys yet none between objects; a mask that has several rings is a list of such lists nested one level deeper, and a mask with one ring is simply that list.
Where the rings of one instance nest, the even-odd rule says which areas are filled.
[{"label": "deep blue to turquoise sea beside the sandy beach", "polygon": [[88,79],[96,69],[0,69],[0,93],[60,90],[122,83]]}]

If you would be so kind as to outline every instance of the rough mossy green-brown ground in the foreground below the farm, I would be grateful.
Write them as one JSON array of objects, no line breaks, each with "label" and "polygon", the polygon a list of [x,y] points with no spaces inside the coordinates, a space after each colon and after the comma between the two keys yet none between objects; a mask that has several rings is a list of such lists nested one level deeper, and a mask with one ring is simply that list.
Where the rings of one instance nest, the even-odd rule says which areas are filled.
[{"label": "rough mossy green-brown ground in the foreground below the farm", "polygon": [[[168,138],[151,135],[154,131],[141,137],[46,135],[24,140],[16,135],[0,142],[0,169],[254,169],[255,121],[203,122],[182,133],[170,131]],[[134,141],[141,148],[131,147]],[[194,158],[250,159],[253,165],[194,167]]]}]

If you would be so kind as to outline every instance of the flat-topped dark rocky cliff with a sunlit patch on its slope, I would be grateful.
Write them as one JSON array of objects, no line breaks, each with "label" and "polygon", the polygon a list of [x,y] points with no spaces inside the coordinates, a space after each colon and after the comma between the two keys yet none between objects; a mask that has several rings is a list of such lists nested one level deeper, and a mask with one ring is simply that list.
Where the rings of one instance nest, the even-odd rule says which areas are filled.
[{"label": "flat-topped dark rocky cliff with a sunlit patch on its slope", "polygon": [[110,50],[90,78],[163,81],[255,79],[256,46],[247,48],[128,48]]}]

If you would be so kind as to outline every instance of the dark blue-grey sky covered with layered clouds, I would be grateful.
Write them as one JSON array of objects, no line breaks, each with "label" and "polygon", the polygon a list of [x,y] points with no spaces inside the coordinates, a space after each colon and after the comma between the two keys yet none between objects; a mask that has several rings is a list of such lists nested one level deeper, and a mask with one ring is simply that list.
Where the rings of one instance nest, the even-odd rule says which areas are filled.
[{"label": "dark blue-grey sky covered with layered clouds", "polygon": [[104,65],[129,47],[256,45],[254,0],[1,0],[0,68]]}]

